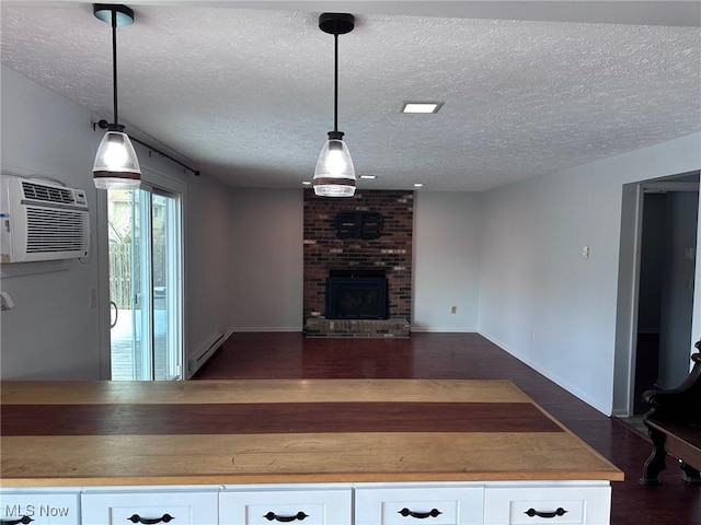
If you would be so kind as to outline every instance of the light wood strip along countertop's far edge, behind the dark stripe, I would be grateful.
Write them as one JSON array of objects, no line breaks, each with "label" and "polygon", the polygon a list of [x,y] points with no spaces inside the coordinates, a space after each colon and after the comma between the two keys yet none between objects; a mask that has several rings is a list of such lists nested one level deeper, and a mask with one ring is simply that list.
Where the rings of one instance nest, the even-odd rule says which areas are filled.
[{"label": "light wood strip along countertop's far edge, behind the dark stripe", "polygon": [[[502,380],[4,381],[2,405],[436,401],[530,402]],[[428,396],[428,397],[427,397]]]}]

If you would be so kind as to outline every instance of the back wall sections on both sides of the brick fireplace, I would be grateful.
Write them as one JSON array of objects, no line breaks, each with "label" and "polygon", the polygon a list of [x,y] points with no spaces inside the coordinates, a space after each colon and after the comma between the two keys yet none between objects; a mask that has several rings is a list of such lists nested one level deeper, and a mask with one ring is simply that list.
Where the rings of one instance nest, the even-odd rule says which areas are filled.
[{"label": "back wall sections on both sides of the brick fireplace", "polygon": [[[234,329],[301,330],[302,190],[230,191],[232,252],[222,282],[230,279]],[[412,329],[475,331],[481,196],[421,191],[414,200]]]}]

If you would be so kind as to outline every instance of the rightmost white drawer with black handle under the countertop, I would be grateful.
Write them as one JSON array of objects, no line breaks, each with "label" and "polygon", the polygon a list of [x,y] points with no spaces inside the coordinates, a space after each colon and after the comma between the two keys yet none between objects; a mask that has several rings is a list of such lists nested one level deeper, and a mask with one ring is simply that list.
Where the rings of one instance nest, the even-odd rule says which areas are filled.
[{"label": "rightmost white drawer with black handle under the countertop", "polygon": [[487,488],[485,525],[609,525],[611,488],[567,486]]}]

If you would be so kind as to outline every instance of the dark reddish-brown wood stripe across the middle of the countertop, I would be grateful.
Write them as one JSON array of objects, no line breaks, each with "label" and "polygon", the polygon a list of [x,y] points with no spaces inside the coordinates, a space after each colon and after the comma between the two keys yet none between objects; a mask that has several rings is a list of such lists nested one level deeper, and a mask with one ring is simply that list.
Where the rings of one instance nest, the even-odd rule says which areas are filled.
[{"label": "dark reddish-brown wood stripe across the middle of the countertop", "polygon": [[561,432],[516,402],[253,402],[10,405],[4,435],[271,434],[300,432]]}]

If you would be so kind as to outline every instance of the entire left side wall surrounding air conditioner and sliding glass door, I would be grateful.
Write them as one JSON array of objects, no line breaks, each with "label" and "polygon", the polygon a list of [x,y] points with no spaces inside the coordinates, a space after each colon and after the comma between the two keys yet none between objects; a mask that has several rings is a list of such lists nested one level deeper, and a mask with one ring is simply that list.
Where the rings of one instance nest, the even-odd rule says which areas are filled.
[{"label": "entire left side wall surrounding air conditioner and sliding glass door", "polygon": [[[105,195],[100,194],[99,202],[92,183],[92,163],[103,132],[93,131],[90,112],[8,68],[2,68],[1,82],[3,172],[51,176],[84,189],[95,248],[85,265],[77,260],[38,265],[48,269],[65,266],[61,271],[8,277],[18,273],[18,265],[12,270],[2,268],[2,290],[16,307],[0,314],[1,376],[103,378],[108,366],[104,355],[101,361],[101,337],[108,353],[108,329],[104,327],[110,308],[97,268],[97,248],[106,250],[97,209],[102,206],[104,211]],[[211,334],[227,332],[233,325],[232,294],[221,285],[221,276],[226,279],[231,272],[228,187],[206,175],[184,175],[176,164],[149,156],[140,147],[137,153],[145,178],[168,179],[185,197],[186,353],[192,355]],[[97,308],[90,308],[91,290],[103,291]]]}]

